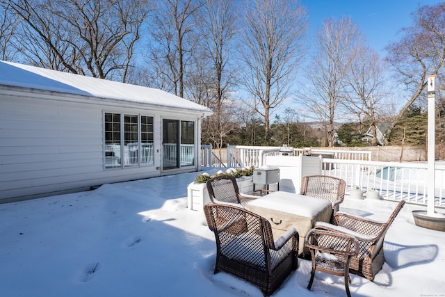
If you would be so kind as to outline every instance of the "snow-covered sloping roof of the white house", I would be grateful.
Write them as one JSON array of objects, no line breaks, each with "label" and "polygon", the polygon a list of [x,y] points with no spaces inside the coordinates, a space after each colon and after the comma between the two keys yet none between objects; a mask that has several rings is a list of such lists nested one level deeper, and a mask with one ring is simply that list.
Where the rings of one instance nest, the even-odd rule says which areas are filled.
[{"label": "snow-covered sloping roof of the white house", "polygon": [[0,85],[202,112],[211,109],[163,90],[0,61]]}]

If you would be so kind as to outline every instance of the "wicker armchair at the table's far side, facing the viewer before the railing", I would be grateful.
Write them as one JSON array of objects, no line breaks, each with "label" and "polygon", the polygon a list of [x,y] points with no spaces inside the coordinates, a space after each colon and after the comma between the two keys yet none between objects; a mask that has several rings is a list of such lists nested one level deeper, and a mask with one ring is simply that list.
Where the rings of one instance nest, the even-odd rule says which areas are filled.
[{"label": "wicker armchair at the table's far side, facing the viewer before the railing", "polygon": [[329,200],[332,213],[339,211],[339,204],[345,197],[346,182],[329,175],[307,175],[301,181],[300,194]]}]

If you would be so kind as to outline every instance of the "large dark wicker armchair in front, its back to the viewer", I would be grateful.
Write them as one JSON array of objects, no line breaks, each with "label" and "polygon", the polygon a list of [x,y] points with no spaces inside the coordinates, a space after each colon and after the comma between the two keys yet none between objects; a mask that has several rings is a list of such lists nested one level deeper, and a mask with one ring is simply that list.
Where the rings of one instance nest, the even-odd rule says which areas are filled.
[{"label": "large dark wicker armchair in front, its back to the viewer", "polygon": [[227,204],[206,204],[204,214],[216,238],[214,273],[225,271],[273,294],[298,266],[298,232],[290,228],[273,240],[270,223]]}]

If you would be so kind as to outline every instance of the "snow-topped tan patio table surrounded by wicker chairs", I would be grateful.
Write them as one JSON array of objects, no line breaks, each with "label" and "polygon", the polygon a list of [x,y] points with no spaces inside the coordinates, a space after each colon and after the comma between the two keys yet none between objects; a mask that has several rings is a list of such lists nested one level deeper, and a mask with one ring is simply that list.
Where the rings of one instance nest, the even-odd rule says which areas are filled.
[{"label": "snow-topped tan patio table surrounded by wicker chairs", "polygon": [[269,221],[275,240],[289,227],[295,227],[300,235],[299,255],[309,254],[309,250],[303,250],[305,237],[315,222],[329,222],[332,214],[332,204],[328,200],[285,191],[251,200],[245,208]]}]

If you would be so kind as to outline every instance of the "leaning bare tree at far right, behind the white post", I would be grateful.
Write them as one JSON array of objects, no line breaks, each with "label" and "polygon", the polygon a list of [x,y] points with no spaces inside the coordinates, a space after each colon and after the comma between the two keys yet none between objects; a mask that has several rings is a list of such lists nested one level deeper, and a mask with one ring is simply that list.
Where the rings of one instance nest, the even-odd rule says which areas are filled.
[{"label": "leaning bare tree at far right, behind the white post", "polygon": [[396,81],[405,86],[407,102],[389,127],[388,135],[426,87],[426,77],[444,73],[445,3],[421,6],[412,14],[412,25],[402,29],[402,37],[387,47],[387,61],[396,71]]}]

